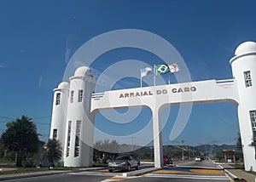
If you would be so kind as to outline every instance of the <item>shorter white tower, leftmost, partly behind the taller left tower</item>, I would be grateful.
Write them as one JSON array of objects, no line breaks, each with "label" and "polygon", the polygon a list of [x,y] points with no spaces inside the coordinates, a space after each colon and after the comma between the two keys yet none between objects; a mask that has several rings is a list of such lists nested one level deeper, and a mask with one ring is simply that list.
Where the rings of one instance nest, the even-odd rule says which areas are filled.
[{"label": "shorter white tower, leftmost, partly behind the taller left tower", "polygon": [[58,139],[61,142],[62,148],[64,148],[65,144],[68,89],[68,82],[61,82],[58,88],[54,89],[54,102],[49,134],[49,139]]}]

